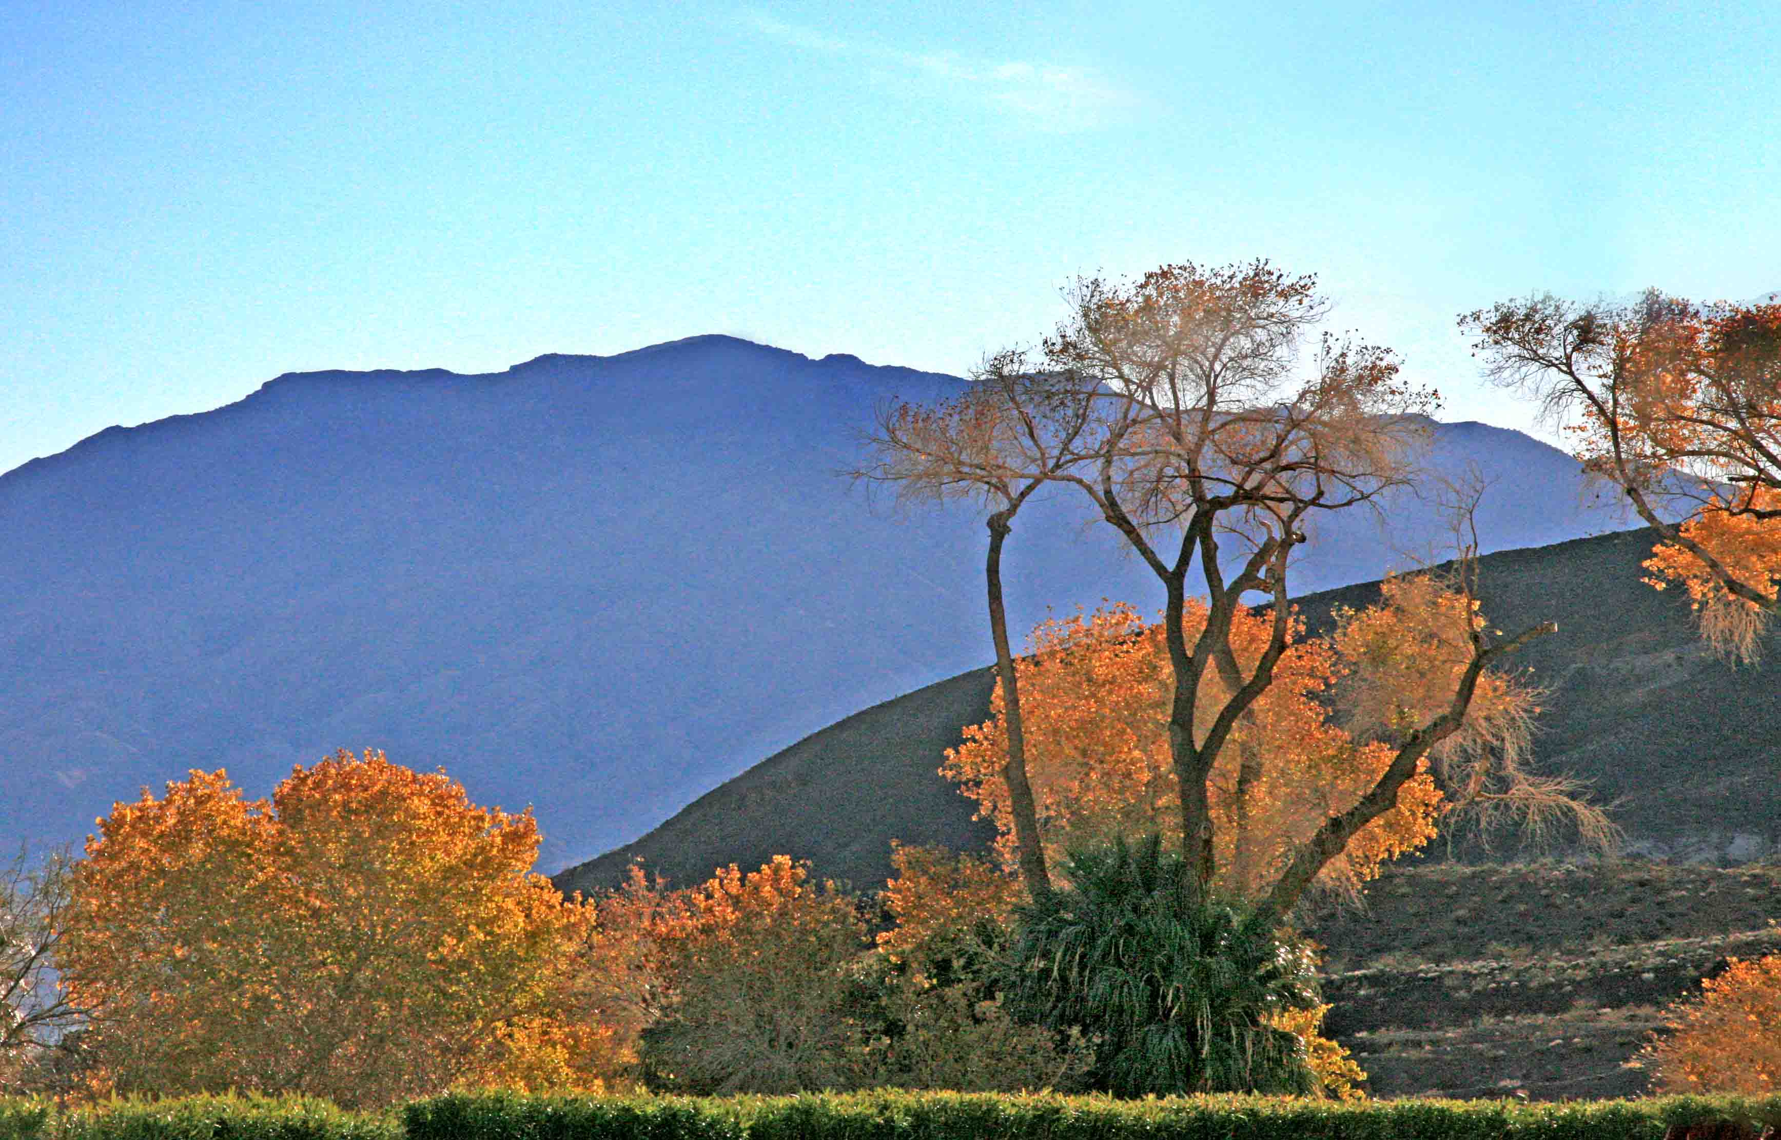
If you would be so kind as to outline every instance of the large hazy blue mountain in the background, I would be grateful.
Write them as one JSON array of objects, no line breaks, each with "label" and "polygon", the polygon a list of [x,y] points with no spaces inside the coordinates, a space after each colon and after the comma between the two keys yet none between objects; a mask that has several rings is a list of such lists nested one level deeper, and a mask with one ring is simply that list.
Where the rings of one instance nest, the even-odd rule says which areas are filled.
[{"label": "large hazy blue mountain in the background", "polygon": [[[623,841],[842,716],[983,661],[980,511],[835,476],[874,403],[962,381],[732,337],[488,376],[287,374],[0,476],[0,841],[78,839],[189,768],[264,794],[385,748],[536,805],[541,869]],[[1441,424],[1485,549],[1628,525],[1576,463]],[[1320,525],[1300,590],[1439,554],[1441,513]],[[1159,606],[1061,492],[1017,520],[1013,627]]]}]

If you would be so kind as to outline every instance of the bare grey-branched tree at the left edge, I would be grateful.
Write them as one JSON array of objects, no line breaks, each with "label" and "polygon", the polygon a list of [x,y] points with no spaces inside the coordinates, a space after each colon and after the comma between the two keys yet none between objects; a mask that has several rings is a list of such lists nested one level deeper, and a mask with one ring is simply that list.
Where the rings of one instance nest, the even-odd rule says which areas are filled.
[{"label": "bare grey-branched tree at the left edge", "polygon": [[0,1094],[28,1090],[85,1024],[53,964],[68,917],[68,855],[27,848],[0,867]]}]

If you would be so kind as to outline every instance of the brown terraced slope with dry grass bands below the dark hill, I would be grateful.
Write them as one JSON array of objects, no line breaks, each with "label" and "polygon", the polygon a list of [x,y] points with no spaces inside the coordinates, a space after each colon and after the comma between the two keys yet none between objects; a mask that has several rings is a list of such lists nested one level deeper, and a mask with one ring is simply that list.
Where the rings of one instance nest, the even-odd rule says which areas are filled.
[{"label": "brown terraced slope with dry grass bands below the dark hill", "polygon": [[1327,1028],[1375,1095],[1637,1095],[1626,1062],[1729,957],[1781,953],[1781,866],[1389,867],[1325,914]]}]

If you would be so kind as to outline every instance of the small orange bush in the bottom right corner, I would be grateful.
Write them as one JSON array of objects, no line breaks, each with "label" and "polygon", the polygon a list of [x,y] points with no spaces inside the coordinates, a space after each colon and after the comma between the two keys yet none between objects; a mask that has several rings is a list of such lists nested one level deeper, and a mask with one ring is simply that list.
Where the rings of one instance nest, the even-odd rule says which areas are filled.
[{"label": "small orange bush in the bottom right corner", "polygon": [[1781,1092],[1781,955],[1733,958],[1663,1022],[1669,1033],[1631,1062],[1655,1072],[1660,1092]]}]

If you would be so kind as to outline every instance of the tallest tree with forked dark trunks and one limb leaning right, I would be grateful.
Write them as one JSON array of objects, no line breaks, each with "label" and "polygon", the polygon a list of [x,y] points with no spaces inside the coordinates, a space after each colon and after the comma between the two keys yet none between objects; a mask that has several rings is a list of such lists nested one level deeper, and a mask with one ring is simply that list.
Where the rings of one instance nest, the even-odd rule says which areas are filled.
[{"label": "tallest tree with forked dark trunks and one limb leaning right", "polygon": [[[1259,778],[1259,753],[1245,757],[1232,741],[1291,645],[1291,554],[1313,515],[1362,508],[1412,477],[1425,435],[1416,413],[1432,410],[1434,395],[1403,385],[1387,349],[1329,335],[1298,372],[1295,346],[1325,305],[1314,278],[1266,262],[1165,265],[1129,285],[1085,280],[1070,301],[1070,319],[1044,342],[1042,367],[1069,376],[1072,390],[1101,394],[1094,456],[1085,470],[1013,477],[1079,488],[1163,584],[1175,832],[1195,882],[1209,887],[1220,846],[1211,782],[1227,748],[1240,757],[1238,784]],[[1206,590],[1199,623],[1186,620],[1190,575]],[[1236,631],[1250,595],[1272,611],[1245,661]],[[1441,672],[1452,682],[1444,700],[1428,716],[1405,705],[1378,725],[1389,761],[1295,846],[1261,891],[1265,912],[1289,912],[1398,805],[1428,752],[1466,727],[1489,666],[1551,631],[1498,638],[1469,598],[1443,613],[1455,625],[1441,643],[1462,650],[1459,668]]]}]

